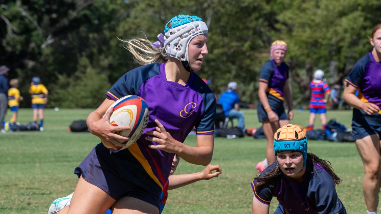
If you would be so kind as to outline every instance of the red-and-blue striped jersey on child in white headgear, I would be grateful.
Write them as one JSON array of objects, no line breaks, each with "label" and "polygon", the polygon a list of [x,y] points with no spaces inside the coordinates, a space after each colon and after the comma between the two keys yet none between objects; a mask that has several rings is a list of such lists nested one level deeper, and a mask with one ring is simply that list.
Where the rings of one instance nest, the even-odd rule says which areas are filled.
[{"label": "red-and-blue striped jersey on child in white headgear", "polygon": [[311,89],[310,108],[325,109],[324,93],[330,92],[330,86],[325,81],[312,80],[309,88]]}]

